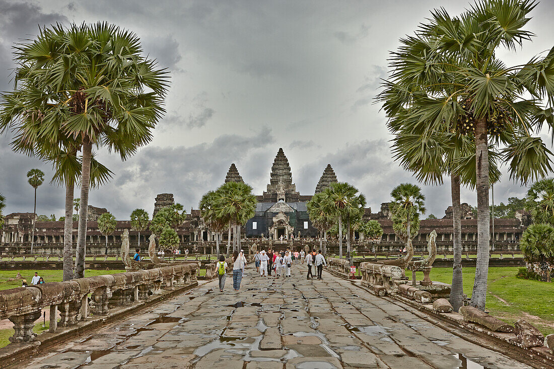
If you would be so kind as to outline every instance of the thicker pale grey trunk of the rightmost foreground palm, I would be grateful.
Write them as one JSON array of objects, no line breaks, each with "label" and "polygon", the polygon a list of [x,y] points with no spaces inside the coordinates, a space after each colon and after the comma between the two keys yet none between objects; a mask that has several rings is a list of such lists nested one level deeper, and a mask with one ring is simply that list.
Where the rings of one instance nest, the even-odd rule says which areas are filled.
[{"label": "thicker pale grey trunk of the rightmost foreground palm", "polygon": [[475,125],[475,162],[477,180],[477,267],[470,305],[485,310],[486,284],[489,275],[489,147],[486,118]]}]

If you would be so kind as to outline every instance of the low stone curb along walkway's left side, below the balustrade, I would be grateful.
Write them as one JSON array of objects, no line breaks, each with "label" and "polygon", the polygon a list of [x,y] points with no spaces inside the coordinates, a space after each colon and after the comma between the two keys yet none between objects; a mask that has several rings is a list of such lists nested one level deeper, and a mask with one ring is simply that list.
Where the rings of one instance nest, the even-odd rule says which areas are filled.
[{"label": "low stone curb along walkway's left side, below the balustrade", "polygon": [[133,303],[132,305],[126,307],[116,307],[112,309],[114,312],[110,312],[108,315],[88,317],[87,320],[79,322],[79,324],[74,327],[69,327],[67,329],[59,328],[58,332],[55,333],[45,331],[38,335],[33,342],[28,344],[9,344],[0,349],[0,369],[25,360],[31,355],[36,355],[37,353],[46,351],[51,347],[74,339],[75,337],[80,337],[86,332],[101,328],[102,326],[123,319],[126,316],[135,314],[136,312],[146,309],[147,307],[161,303],[168,298],[182,294],[197,286],[198,282],[196,281],[175,290],[165,291],[162,295],[152,295],[151,298],[146,301],[140,301],[136,304]]}]

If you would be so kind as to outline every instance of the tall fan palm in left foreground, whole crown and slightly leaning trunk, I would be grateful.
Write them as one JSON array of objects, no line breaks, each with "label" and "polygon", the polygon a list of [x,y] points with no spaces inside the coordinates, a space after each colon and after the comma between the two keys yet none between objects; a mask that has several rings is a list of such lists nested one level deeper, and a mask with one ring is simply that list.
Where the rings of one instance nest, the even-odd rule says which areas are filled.
[{"label": "tall fan palm in left foreground, whole crown and slightly leaning trunk", "polygon": [[108,23],[55,25],[16,45],[14,91],[0,127],[27,123],[38,140],[79,137],[81,204],[75,275],[83,276],[93,145],[122,160],[150,142],[161,118],[167,72],[143,57],[139,38]]}]

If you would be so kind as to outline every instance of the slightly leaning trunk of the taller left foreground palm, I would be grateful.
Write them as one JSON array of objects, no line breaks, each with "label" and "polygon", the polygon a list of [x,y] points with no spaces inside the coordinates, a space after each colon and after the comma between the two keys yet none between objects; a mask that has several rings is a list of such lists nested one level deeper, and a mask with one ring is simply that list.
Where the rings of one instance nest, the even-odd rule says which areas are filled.
[{"label": "slightly leaning trunk of the taller left foreground palm", "polygon": [[79,230],[77,235],[77,255],[75,258],[75,278],[83,278],[86,253],[86,221],[89,209],[90,158],[93,144],[83,143],[83,164],[81,165],[81,200],[79,202]]}]

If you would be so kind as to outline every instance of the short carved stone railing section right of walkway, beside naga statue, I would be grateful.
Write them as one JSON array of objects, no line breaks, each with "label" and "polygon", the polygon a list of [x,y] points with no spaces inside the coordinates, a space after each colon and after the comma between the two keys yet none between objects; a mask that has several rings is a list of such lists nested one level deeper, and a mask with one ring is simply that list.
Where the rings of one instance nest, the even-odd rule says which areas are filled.
[{"label": "short carved stone railing section right of walkway, beside naga statue", "polygon": [[361,263],[360,274],[362,286],[373,288],[381,296],[391,291],[396,292],[397,286],[393,282],[406,279],[404,269],[397,265]]}]

